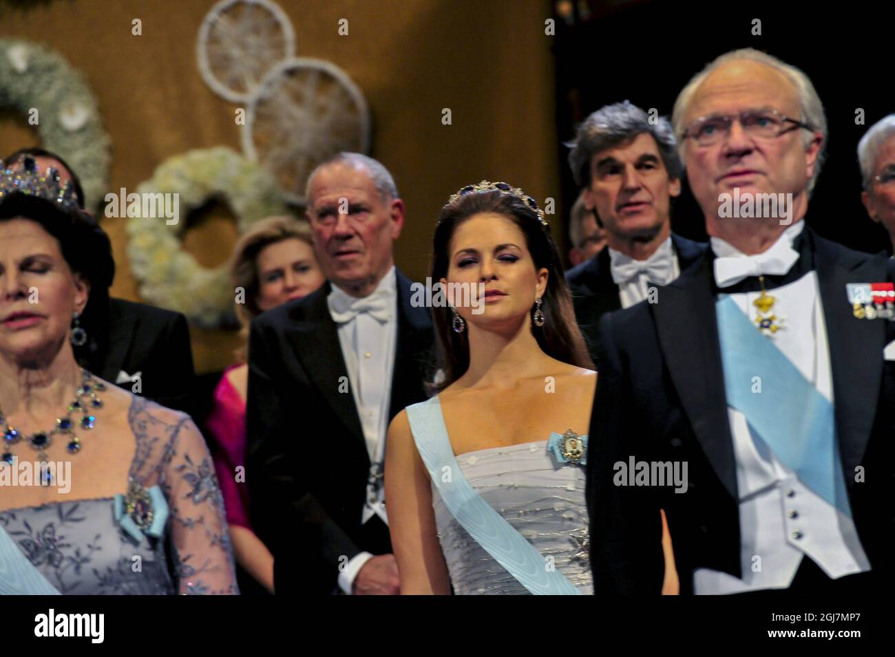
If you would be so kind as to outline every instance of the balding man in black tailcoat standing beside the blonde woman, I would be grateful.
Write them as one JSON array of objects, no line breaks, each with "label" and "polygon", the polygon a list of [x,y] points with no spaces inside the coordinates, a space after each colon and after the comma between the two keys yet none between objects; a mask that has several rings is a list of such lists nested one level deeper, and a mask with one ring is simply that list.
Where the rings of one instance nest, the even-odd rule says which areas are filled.
[{"label": "balding man in black tailcoat standing beside the blonde woman", "polygon": [[306,198],[328,282],[251,323],[251,519],[277,594],[396,594],[382,463],[392,417],[426,398],[429,310],[394,264],[404,203],[382,164],[334,156]]}]

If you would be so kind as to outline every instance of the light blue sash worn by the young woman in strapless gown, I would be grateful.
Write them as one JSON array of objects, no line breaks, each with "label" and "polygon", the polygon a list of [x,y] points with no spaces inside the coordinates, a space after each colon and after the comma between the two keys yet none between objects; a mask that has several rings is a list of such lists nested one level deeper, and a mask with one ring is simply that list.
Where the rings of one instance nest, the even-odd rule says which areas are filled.
[{"label": "light blue sash worn by the young woman in strapless gown", "polygon": [[438,397],[408,406],[407,419],[432,483],[466,533],[530,593],[580,595],[558,569],[547,569],[541,552],[473,490],[454,457]]}]

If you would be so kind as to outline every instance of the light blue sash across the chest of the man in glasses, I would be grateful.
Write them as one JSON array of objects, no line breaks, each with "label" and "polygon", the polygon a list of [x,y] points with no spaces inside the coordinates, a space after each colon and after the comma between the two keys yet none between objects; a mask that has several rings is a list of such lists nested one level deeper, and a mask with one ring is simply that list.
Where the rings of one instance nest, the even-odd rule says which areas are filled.
[{"label": "light blue sash across the chest of the man in glasses", "polygon": [[[799,480],[851,517],[832,404],[729,296],[715,305],[724,390],[750,428]],[[753,392],[753,377],[761,392]]]}]

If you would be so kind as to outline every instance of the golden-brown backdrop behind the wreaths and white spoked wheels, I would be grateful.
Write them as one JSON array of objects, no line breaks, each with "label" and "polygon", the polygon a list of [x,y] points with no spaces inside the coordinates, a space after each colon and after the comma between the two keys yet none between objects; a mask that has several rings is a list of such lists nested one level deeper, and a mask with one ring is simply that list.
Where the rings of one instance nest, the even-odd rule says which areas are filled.
[{"label": "golden-brown backdrop behind the wreaths and white spoked wheels", "polygon": [[[0,37],[55,49],[98,98],[112,141],[109,191],[136,190],[166,158],[193,148],[242,152],[237,106],[218,97],[196,61],[200,24],[215,0],[0,0]],[[396,264],[423,280],[435,217],[447,196],[482,178],[559,200],[553,37],[541,0],[283,0],[295,55],[337,64],[371,111],[371,155],[394,174],[406,204]],[[512,16],[512,20],[507,17]],[[142,35],[132,35],[140,19]],[[348,35],[340,36],[340,19]],[[0,65],[8,65],[0,63]],[[442,124],[442,109],[452,114]],[[0,154],[39,145],[27,117],[0,113]],[[561,220],[549,216],[560,240]],[[211,206],[183,247],[217,265],[236,239],[232,216]],[[102,218],[115,250],[112,294],[141,300],[126,252],[126,219]],[[153,221],[153,220],[148,220]],[[191,327],[199,373],[231,362],[236,333]]]}]

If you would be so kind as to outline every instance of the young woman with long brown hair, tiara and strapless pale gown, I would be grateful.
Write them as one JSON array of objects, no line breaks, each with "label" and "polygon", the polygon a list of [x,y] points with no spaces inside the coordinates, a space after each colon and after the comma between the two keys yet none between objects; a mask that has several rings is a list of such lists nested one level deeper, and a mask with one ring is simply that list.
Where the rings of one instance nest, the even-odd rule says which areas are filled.
[{"label": "young woman with long brown hair, tiara and strapless pale gown", "polygon": [[591,594],[584,464],[599,437],[584,432],[597,376],[544,213],[482,181],[442,208],[433,248],[432,281],[484,298],[433,307],[438,393],[389,428],[401,592]]}]

